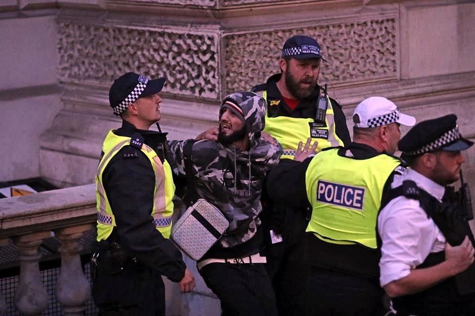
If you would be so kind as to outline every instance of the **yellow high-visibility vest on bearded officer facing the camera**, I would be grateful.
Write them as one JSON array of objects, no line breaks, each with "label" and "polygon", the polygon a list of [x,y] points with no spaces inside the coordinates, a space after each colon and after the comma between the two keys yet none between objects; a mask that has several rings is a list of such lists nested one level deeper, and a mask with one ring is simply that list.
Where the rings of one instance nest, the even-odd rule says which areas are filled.
[{"label": "yellow high-visibility vest on bearded officer facing the camera", "polygon": [[[262,93],[262,97],[267,101],[267,91]],[[313,145],[314,141],[318,142],[317,152],[328,147],[343,146],[343,141],[335,132],[333,106],[330,98],[328,98],[328,104],[329,107],[325,117],[327,126],[318,128],[328,131],[328,139],[312,138],[311,145]],[[298,143],[301,141],[303,145],[305,145],[305,142],[310,137],[309,123],[313,121],[313,118],[290,118],[285,116],[270,118],[269,116],[266,116],[264,131],[271,134],[272,137],[275,137],[282,145],[284,154],[281,158],[293,159]]]}]

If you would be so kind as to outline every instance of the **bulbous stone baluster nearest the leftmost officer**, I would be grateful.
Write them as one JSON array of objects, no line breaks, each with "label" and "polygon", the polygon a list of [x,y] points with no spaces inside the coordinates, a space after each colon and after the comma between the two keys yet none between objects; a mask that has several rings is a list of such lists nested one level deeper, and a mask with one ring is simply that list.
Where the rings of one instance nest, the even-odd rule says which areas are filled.
[{"label": "bulbous stone baluster nearest the leftmost officer", "polygon": [[56,283],[56,297],[63,304],[65,316],[82,316],[86,310],[90,286],[81,266],[79,239],[93,226],[81,225],[56,230],[61,241],[61,271]]}]

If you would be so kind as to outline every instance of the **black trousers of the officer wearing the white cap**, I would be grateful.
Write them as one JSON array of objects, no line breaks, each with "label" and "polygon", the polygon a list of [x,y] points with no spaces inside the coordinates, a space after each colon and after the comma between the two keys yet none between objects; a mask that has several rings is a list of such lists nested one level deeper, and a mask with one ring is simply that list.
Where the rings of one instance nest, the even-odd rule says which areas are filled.
[{"label": "black trousers of the officer wearing the white cap", "polygon": [[383,316],[383,294],[377,279],[310,267],[306,315]]}]

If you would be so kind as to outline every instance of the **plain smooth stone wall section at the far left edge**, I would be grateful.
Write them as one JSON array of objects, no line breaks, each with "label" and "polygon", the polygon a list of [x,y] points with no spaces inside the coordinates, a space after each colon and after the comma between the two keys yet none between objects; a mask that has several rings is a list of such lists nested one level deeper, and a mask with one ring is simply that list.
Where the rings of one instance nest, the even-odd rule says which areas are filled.
[{"label": "plain smooth stone wall section at the far left edge", "polygon": [[55,12],[0,13],[0,30],[3,182],[40,176],[40,135],[61,104]]}]

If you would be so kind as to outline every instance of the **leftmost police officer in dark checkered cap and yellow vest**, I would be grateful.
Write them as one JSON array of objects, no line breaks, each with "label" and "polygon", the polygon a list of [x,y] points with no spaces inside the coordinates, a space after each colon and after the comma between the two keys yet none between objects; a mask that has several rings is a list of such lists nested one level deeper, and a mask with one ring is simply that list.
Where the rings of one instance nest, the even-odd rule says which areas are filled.
[{"label": "leftmost police officer in dark checkered cap and yellow vest", "polygon": [[150,131],[160,115],[165,78],[127,73],[109,91],[119,129],[108,132],[95,176],[97,251],[93,297],[99,315],[165,315],[162,275],[182,292],[195,285],[168,239],[175,186],[165,159],[165,133]]}]

